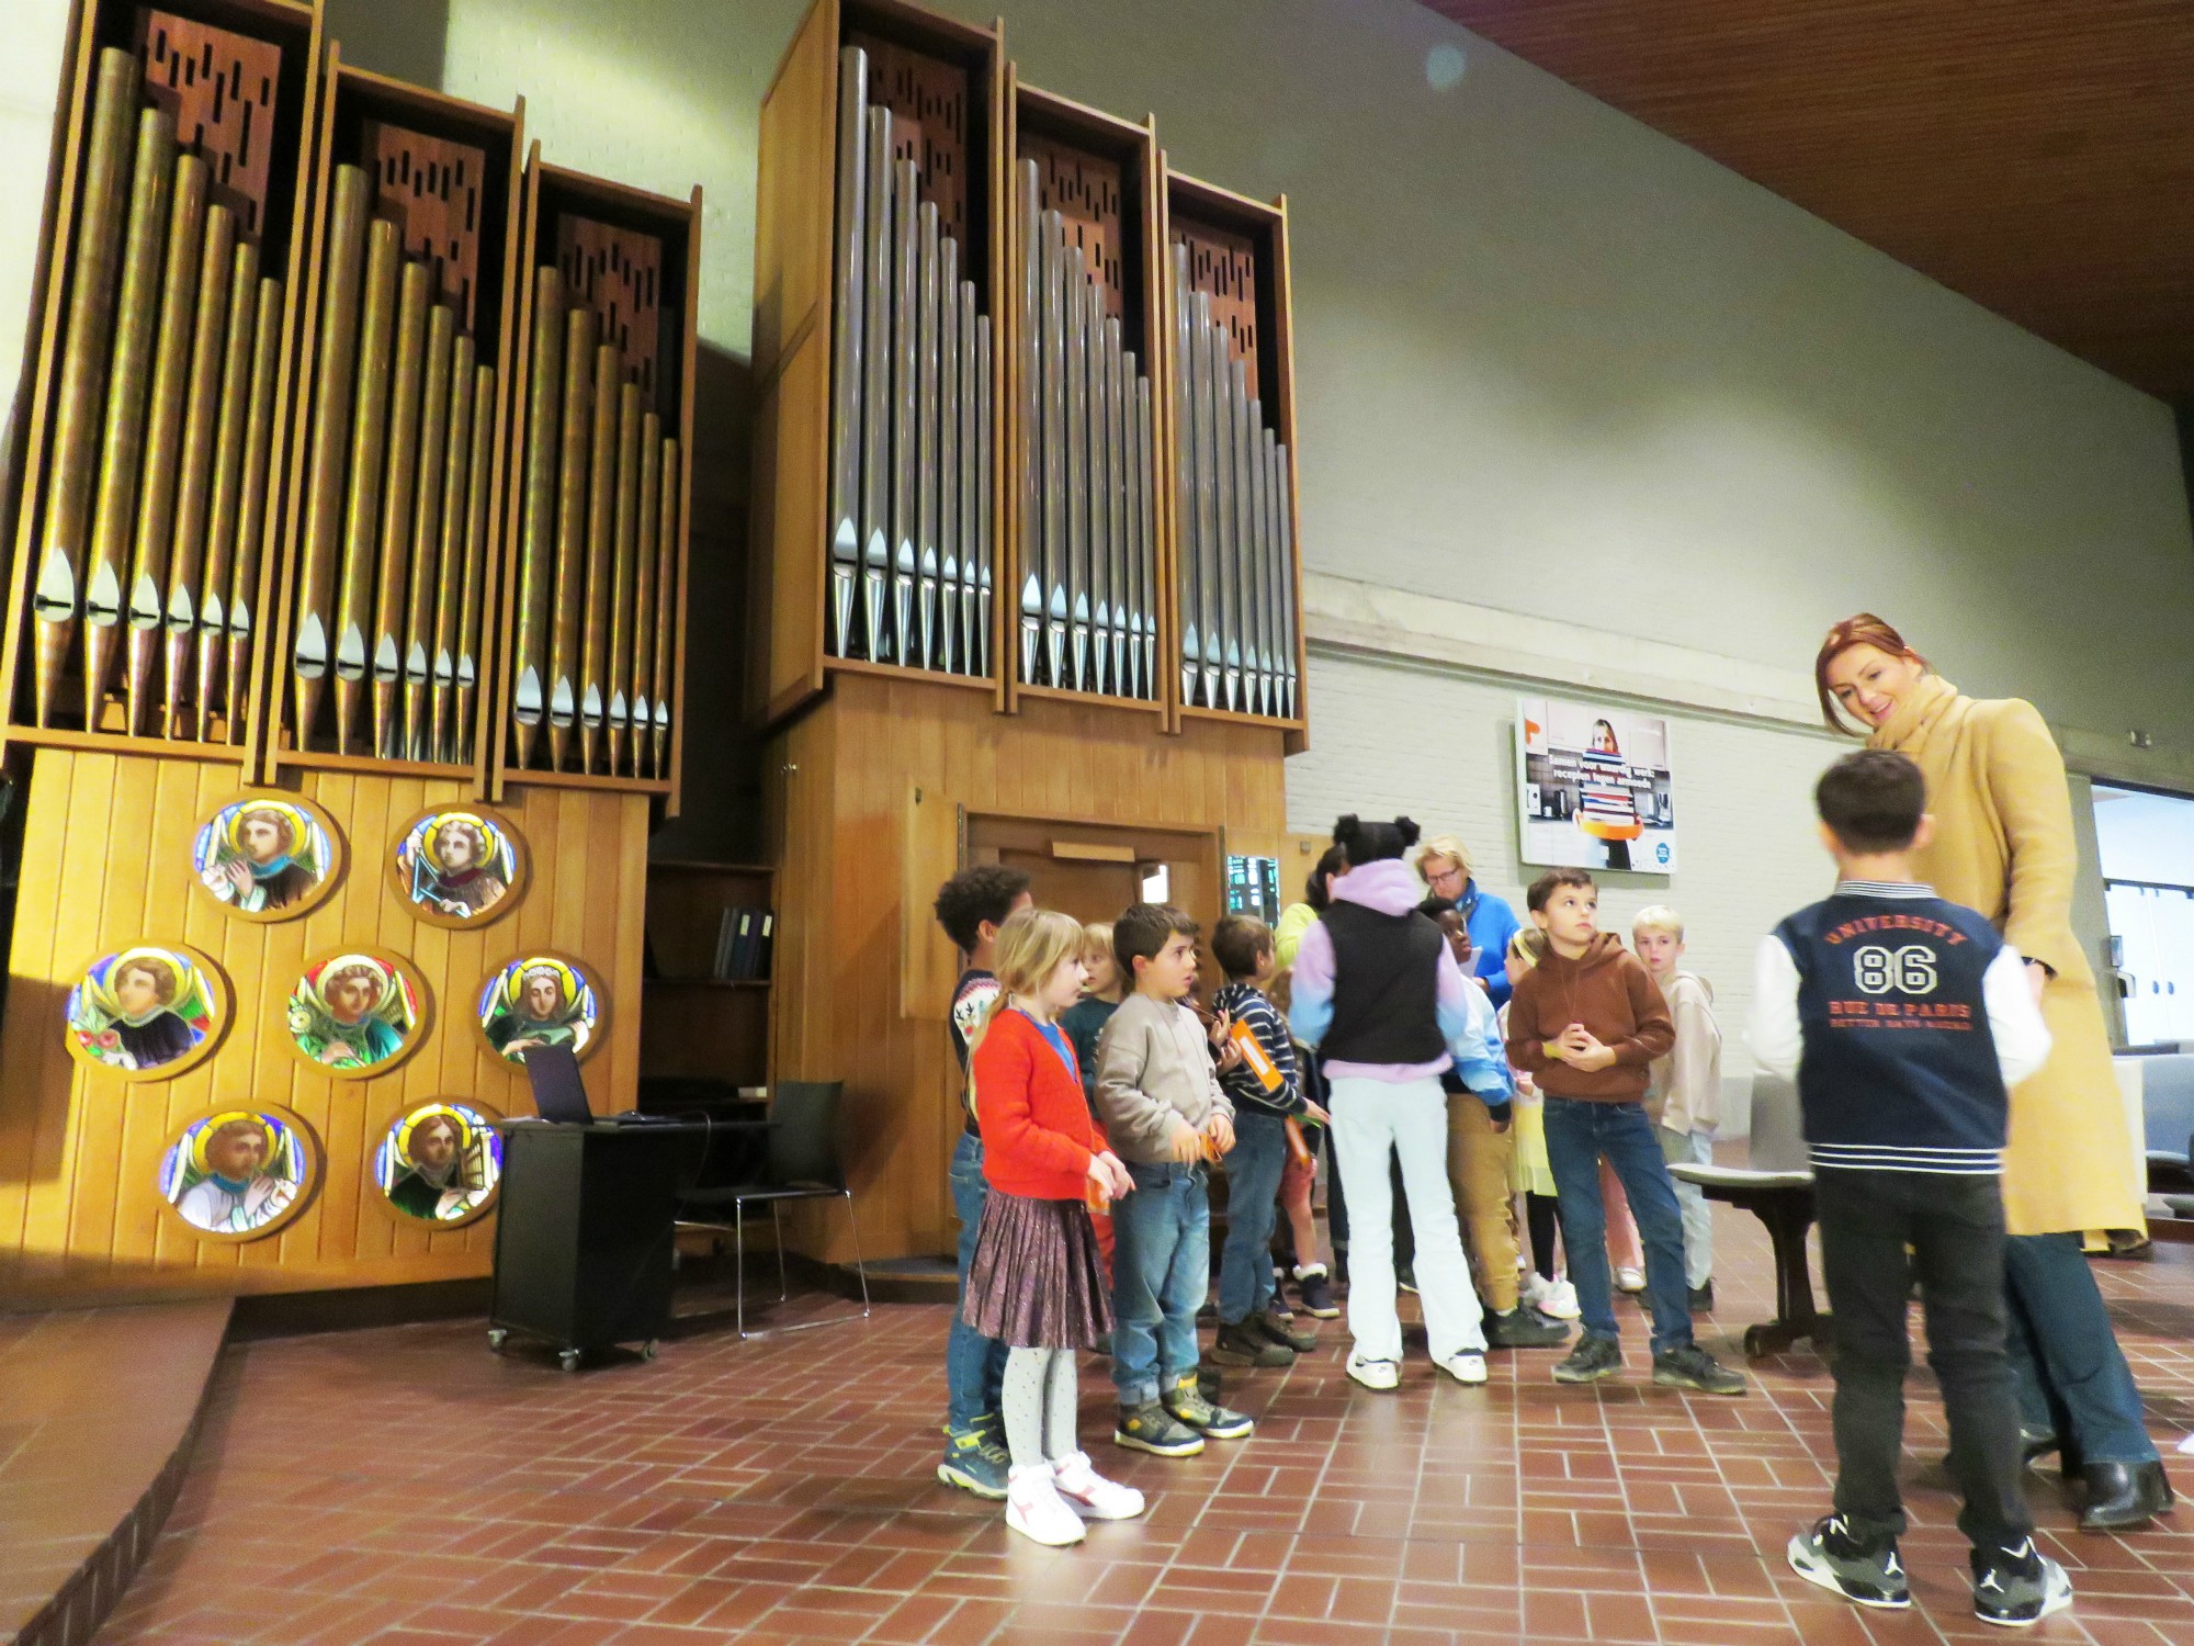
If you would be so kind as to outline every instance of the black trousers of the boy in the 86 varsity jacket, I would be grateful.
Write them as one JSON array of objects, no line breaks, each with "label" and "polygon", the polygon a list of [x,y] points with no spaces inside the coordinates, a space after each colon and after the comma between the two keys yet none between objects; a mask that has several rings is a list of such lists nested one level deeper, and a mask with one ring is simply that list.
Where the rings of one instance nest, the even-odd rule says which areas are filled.
[{"label": "black trousers of the boy in the 86 varsity jacket", "polygon": [[1926,1358],[1950,1420],[1950,1475],[1966,1499],[1957,1530],[1981,1549],[2014,1547],[2034,1519],[2018,1495],[2018,1398],[2003,1358],[1999,1181],[1819,1168],[1812,1198],[1836,1332],[1836,1512],[1863,1543],[1904,1530],[1898,1455],[1918,1275]]}]

